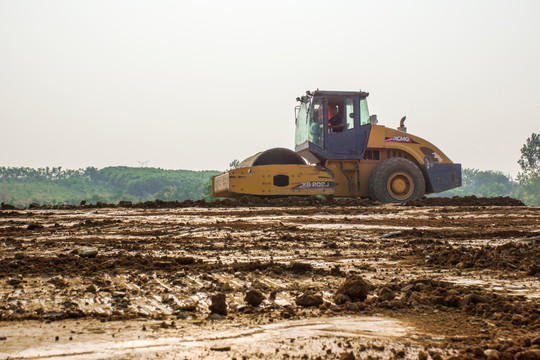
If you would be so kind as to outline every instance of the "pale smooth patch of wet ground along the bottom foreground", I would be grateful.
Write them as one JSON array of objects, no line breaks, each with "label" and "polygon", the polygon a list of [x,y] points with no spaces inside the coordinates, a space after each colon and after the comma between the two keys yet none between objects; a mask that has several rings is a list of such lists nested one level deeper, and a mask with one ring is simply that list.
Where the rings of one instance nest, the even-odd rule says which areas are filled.
[{"label": "pale smooth patch of wet ground along the bottom foreground", "polygon": [[[395,342],[406,337],[414,329],[399,321],[379,317],[338,317],[291,320],[259,326],[231,326],[231,324],[210,323],[210,326],[183,327],[158,336],[133,330],[123,338],[111,340],[111,329],[103,335],[87,337],[86,341],[69,343],[39,342],[39,328],[34,329],[34,340],[27,338],[28,348],[17,352],[0,352],[0,357],[10,359],[102,359],[139,358],[151,354],[168,354],[168,357],[186,358],[230,358],[233,355],[256,355],[282,358],[276,349],[293,354],[322,354],[327,351],[344,351],[342,342],[351,339],[363,341]],[[28,329],[26,330],[28,331]],[[88,331],[88,327],[86,328]],[[114,331],[114,330],[112,330]],[[129,330],[128,330],[129,331]],[[176,333],[175,333],[176,332]],[[109,333],[109,334],[108,334]],[[181,334],[179,334],[181,333]],[[144,334],[144,333],[143,333]],[[181,335],[181,336],[178,336]],[[21,334],[23,336],[23,334]],[[9,350],[10,336],[5,350]],[[105,338],[108,337],[108,341]],[[38,340],[38,341],[35,341]],[[410,341],[410,339],[407,339]],[[324,349],[324,351],[323,351]],[[279,351],[279,350],[278,350]]]}]

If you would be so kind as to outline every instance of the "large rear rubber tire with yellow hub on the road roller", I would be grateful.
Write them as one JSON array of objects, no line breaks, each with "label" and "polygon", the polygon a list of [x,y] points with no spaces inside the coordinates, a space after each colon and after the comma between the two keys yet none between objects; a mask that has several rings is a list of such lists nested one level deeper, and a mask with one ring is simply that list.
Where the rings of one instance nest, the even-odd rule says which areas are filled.
[{"label": "large rear rubber tire with yellow hub on the road roller", "polygon": [[382,203],[402,203],[418,199],[426,193],[422,171],[404,158],[383,160],[369,178],[369,197]]}]

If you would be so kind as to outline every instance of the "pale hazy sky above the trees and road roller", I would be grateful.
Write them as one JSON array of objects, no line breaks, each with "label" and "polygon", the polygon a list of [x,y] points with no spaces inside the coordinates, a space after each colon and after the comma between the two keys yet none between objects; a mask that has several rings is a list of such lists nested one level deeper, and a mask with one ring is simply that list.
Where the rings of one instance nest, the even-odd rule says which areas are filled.
[{"label": "pale hazy sky above the trees and road roller", "polygon": [[295,98],[515,175],[540,132],[540,1],[0,0],[0,166],[224,170],[294,149]]}]

